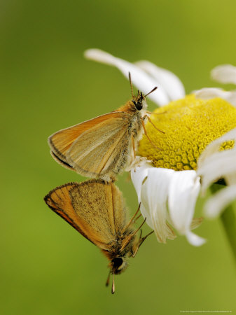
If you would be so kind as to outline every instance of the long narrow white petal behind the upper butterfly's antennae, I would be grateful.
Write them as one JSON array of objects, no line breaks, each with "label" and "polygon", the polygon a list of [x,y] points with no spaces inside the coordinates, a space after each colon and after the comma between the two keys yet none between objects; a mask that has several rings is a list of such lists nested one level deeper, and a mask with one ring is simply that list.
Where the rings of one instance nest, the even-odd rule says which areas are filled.
[{"label": "long narrow white petal behind the upper butterfly's antennae", "polygon": [[[140,69],[138,66],[132,64],[131,62],[127,62],[123,59],[114,57],[108,52],[104,52],[103,50],[99,49],[89,49],[85,51],[84,55],[88,59],[102,62],[104,64],[110,64],[111,66],[116,66],[126,78],[129,77],[128,73],[130,72],[132,83],[136,85],[139,90],[144,92],[144,94],[150,92],[156,85],[155,80],[151,78],[151,76],[148,76],[148,74],[144,70]],[[169,97],[160,85],[158,86],[158,90],[148,95],[148,97],[160,106],[169,103]]]}]

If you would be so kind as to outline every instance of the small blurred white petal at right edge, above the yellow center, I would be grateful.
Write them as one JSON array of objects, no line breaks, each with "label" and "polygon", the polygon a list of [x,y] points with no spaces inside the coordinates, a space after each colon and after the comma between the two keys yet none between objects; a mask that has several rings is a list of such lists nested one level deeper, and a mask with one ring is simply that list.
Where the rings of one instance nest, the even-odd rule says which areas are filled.
[{"label": "small blurred white petal at right edge, above the yellow center", "polygon": [[211,78],[221,83],[236,84],[236,66],[221,64],[211,70]]}]

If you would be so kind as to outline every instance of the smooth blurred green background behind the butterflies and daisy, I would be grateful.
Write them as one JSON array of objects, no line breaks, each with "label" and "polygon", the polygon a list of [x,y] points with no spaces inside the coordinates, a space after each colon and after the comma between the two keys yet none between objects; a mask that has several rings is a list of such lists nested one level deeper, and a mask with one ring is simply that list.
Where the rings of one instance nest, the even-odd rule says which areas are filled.
[{"label": "smooth blurred green background behind the butterflies and daisy", "polygon": [[[122,74],[83,51],[148,59],[176,73],[186,92],[217,86],[209,71],[236,65],[235,10],[235,0],[1,1],[1,314],[235,311],[235,265],[220,221],[196,230],[208,240],[200,248],[152,235],[111,295],[106,258],[43,202],[55,186],[85,180],[50,157],[48,136],[130,98]],[[127,174],[118,186],[133,213]]]}]

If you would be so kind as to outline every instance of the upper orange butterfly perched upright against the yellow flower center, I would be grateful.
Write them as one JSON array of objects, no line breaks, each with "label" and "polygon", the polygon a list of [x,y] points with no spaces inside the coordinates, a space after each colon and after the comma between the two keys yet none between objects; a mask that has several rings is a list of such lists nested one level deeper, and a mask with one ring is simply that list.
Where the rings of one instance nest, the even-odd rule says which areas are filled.
[{"label": "upper orange butterfly perched upright against the yellow flower center", "polygon": [[131,164],[137,142],[146,134],[146,119],[151,121],[145,97],[157,87],[146,95],[138,92],[134,96],[131,78],[130,85],[132,99],[124,106],[48,138],[51,154],[60,165],[86,177],[111,181]]}]

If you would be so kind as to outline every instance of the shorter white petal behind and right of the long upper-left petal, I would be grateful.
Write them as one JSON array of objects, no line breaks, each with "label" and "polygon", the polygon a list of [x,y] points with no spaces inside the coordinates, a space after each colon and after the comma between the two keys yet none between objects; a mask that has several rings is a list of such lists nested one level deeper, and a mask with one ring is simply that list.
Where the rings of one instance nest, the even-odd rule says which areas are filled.
[{"label": "shorter white petal behind and right of the long upper-left petal", "polygon": [[135,62],[135,64],[137,64],[137,66],[153,77],[155,79],[156,85],[162,85],[170,100],[174,101],[176,99],[185,97],[183,83],[171,71],[162,69],[152,62],[148,62],[146,60]]}]

